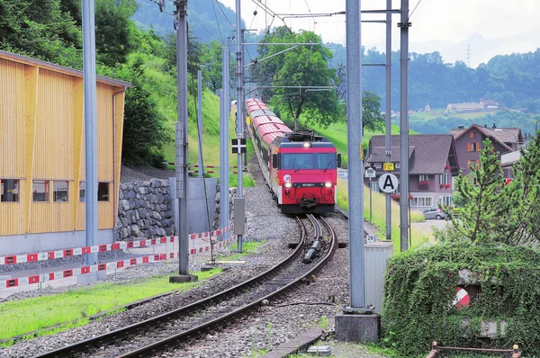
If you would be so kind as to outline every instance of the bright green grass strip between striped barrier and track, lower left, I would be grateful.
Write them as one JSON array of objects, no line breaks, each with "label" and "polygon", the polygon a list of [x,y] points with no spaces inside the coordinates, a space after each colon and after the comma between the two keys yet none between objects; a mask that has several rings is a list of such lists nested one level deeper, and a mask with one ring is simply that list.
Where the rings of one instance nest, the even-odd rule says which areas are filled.
[{"label": "bright green grass strip between striped barrier and track, lower left", "polygon": [[[205,280],[220,269],[194,273]],[[174,273],[175,274],[175,273]],[[9,339],[33,331],[51,335],[88,323],[90,316],[118,309],[128,303],[170,291],[187,291],[201,282],[169,283],[169,275],[154,276],[138,282],[103,282],[92,287],[77,288],[56,295],[4,302],[0,305],[0,339]],[[55,330],[49,327],[59,326]],[[45,331],[46,330],[46,331]],[[9,344],[4,344],[9,345]]]}]

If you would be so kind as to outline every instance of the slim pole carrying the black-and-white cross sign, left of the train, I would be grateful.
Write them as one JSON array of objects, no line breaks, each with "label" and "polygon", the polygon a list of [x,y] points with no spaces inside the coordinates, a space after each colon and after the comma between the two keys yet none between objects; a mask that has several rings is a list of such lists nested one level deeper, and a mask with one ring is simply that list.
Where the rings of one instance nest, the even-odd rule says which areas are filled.
[{"label": "slim pole carrying the black-and-white cross sign, left of the train", "polygon": [[[244,103],[242,103],[242,74],[244,73],[244,67],[242,66],[242,22],[240,16],[240,0],[236,0],[236,26],[237,26],[237,138],[238,144],[241,139],[244,138]],[[243,198],[242,192],[243,189],[243,175],[244,171],[242,170],[242,153],[241,150],[238,150],[238,199]],[[242,252],[242,234],[238,234],[238,252]]]}]

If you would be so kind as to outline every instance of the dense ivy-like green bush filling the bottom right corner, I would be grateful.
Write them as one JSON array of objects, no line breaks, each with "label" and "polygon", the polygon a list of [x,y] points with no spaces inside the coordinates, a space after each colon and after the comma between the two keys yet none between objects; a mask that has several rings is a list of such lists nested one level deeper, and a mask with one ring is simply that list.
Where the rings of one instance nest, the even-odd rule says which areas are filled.
[{"label": "dense ivy-like green bush filling the bottom right corner", "polygon": [[[384,277],[383,345],[401,356],[441,346],[511,347],[540,356],[540,252],[526,246],[464,240],[395,255]],[[459,271],[468,269],[480,294],[453,305]],[[465,287],[467,289],[467,287]],[[506,334],[480,338],[482,321],[506,321]],[[464,322],[468,325],[464,327]]]}]

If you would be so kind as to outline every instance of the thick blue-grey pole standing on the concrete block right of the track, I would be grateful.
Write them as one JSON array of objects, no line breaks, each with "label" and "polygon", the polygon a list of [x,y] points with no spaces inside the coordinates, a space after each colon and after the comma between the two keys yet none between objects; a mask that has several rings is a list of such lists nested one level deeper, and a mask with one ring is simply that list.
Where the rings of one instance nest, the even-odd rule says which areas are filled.
[{"label": "thick blue-grey pole standing on the concrete block right of the track", "polygon": [[351,308],[365,307],[364,170],[362,150],[362,53],[360,1],[347,0],[347,139]]}]

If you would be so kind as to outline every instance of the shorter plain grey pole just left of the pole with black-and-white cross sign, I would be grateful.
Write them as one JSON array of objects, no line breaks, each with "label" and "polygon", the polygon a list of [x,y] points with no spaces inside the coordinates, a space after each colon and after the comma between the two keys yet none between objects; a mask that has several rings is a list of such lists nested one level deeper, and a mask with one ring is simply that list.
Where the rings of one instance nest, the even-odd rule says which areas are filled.
[{"label": "shorter plain grey pole just left of the pole with black-and-white cross sign", "polygon": [[[229,226],[229,47],[221,48],[222,84],[220,94],[220,228]],[[229,233],[223,233],[223,240]]]}]

